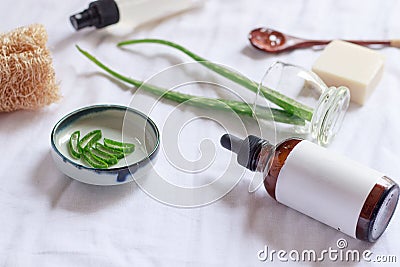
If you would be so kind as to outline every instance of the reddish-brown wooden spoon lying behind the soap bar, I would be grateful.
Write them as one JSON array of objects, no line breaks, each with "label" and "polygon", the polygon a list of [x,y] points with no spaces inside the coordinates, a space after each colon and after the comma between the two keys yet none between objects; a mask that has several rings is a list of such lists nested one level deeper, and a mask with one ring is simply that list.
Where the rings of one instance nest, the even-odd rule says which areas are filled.
[{"label": "reddish-brown wooden spoon lying behind the soap bar", "polygon": [[[257,28],[249,34],[250,43],[257,49],[268,53],[280,53],[283,51],[329,44],[332,40],[307,40],[287,35],[269,28]],[[400,48],[400,40],[344,40],[362,46],[380,45]]]}]

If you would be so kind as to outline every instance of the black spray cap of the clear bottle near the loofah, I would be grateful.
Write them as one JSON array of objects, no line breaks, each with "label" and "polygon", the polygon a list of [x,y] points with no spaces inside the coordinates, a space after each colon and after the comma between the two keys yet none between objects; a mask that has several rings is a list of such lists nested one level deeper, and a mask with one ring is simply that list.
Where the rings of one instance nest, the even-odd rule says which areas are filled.
[{"label": "black spray cap of the clear bottle near the loofah", "polygon": [[114,0],[98,0],[89,4],[89,8],[69,17],[75,30],[95,26],[103,28],[119,21],[119,10]]}]

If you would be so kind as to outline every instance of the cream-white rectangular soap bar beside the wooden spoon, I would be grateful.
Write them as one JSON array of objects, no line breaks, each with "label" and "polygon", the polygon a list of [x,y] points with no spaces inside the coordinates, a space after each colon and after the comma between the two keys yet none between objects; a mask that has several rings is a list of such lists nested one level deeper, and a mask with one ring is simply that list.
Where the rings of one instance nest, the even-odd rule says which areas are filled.
[{"label": "cream-white rectangular soap bar beside the wooden spoon", "polygon": [[369,48],[335,40],[327,45],[312,70],[327,86],[346,86],[351,101],[363,105],[383,74],[384,57]]}]

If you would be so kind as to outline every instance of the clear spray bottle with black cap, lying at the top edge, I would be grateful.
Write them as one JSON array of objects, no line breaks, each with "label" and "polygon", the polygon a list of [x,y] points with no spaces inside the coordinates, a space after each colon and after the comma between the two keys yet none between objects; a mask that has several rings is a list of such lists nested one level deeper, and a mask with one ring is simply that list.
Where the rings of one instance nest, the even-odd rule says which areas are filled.
[{"label": "clear spray bottle with black cap, lying at the top edge", "polygon": [[[94,26],[127,34],[136,27],[200,6],[200,0],[97,0],[84,11],[72,15],[76,30]],[[115,24],[115,25],[114,25]]]}]

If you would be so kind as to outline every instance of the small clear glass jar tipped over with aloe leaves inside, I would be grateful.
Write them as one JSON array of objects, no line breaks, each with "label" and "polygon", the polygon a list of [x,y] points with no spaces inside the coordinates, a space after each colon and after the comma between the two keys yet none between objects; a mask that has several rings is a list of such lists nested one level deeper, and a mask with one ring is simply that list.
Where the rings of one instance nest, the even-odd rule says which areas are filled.
[{"label": "small clear glass jar tipped over with aloe leaves inside", "polygon": [[[276,124],[276,131],[285,137],[301,137],[328,145],[340,130],[350,102],[349,89],[327,87],[312,71],[275,62],[265,73],[255,102],[256,114],[273,107],[260,96],[261,88],[271,88],[306,106],[308,116],[304,126]],[[268,108],[265,109],[268,111]],[[285,134],[286,133],[286,134]]]}]

